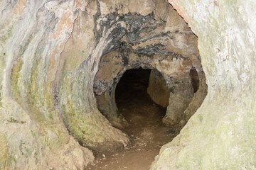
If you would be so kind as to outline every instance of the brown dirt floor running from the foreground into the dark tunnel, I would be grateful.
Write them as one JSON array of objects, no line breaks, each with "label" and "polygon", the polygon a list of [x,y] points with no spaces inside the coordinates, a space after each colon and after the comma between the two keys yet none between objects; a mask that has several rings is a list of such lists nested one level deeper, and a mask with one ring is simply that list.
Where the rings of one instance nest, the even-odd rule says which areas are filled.
[{"label": "brown dirt floor running from the foreground into the dark tunnel", "polygon": [[144,91],[122,91],[117,97],[119,113],[124,115],[129,126],[124,128],[131,138],[132,145],[117,151],[96,156],[91,170],[146,170],[159,154],[161,146],[171,142],[177,132],[161,123],[166,108],[156,105]]}]

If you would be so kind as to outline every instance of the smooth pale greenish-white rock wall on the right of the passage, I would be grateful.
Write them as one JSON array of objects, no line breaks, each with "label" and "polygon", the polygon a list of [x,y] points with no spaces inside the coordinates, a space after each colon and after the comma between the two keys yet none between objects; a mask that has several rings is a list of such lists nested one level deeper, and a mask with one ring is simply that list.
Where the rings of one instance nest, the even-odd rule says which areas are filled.
[{"label": "smooth pale greenish-white rock wall on the right of the passage", "polygon": [[170,3],[198,36],[208,95],[151,169],[255,169],[255,1]]}]

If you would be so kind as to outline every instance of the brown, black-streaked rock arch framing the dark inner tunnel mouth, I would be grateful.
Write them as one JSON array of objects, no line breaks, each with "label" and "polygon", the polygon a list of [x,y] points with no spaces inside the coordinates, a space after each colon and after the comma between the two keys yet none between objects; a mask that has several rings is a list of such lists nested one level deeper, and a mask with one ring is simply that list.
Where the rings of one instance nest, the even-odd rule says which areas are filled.
[{"label": "brown, black-streaked rock arch framing the dark inner tunnel mouth", "polygon": [[[167,86],[167,89],[164,89],[166,92],[164,102],[167,101],[167,103],[156,99],[156,95],[159,94],[149,94],[154,101],[159,101],[163,106],[169,105],[164,118],[166,125],[183,124],[180,122],[185,115],[184,111],[193,98],[193,88],[189,76],[192,68],[201,74],[201,77],[198,77],[203,84],[201,89],[207,89],[196,47],[196,36],[166,1],[157,2],[159,4],[156,3],[151,13],[146,16],[141,11],[122,13],[122,15],[117,15],[118,12],[105,13],[105,15],[101,13],[100,21],[97,20],[100,22],[98,24],[100,24],[101,30],[108,30],[107,38],[110,38],[111,41],[108,42],[101,59],[98,60],[100,64],[93,88],[97,98],[97,107],[112,125],[118,128],[122,128],[127,123],[123,118],[119,118],[114,93],[119,79],[127,69],[139,67],[156,69],[164,76],[166,81],[164,84]],[[116,5],[116,3],[105,3],[105,7],[108,8]],[[110,25],[110,23],[112,24]],[[150,91],[153,89],[149,88]],[[166,98],[169,96],[168,101]],[[198,96],[204,98],[206,90],[198,91]],[[202,102],[202,100],[196,101]],[[195,110],[193,111],[195,112]],[[189,115],[191,116],[193,113],[191,110],[186,117],[190,118]]]}]

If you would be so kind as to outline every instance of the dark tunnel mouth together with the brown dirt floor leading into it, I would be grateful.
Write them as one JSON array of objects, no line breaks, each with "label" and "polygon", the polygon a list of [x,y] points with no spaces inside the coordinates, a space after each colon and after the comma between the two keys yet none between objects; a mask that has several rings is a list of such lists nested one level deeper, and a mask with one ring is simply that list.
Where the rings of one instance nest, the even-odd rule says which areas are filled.
[{"label": "dark tunnel mouth together with the brown dirt floor leading into it", "polygon": [[[159,93],[162,91],[162,86],[159,85],[162,84],[166,85],[166,82],[156,69],[140,67],[129,69],[122,74],[114,96],[117,114],[123,116],[128,123],[122,131],[129,135],[132,146],[114,154],[105,153],[107,159],[97,164],[95,169],[148,169],[159,153],[159,148],[177,135],[162,123],[166,107],[160,106],[152,99],[162,98],[163,95]],[[152,89],[156,92],[154,95]],[[166,93],[169,96],[169,91]]]}]

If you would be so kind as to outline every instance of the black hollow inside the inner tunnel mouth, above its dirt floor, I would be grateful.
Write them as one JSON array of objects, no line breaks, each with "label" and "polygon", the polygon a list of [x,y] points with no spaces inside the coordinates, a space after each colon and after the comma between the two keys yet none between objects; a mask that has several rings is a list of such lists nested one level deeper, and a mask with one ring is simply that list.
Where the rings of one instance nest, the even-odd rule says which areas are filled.
[{"label": "black hollow inside the inner tunnel mouth, above its dirt floor", "polygon": [[166,108],[169,104],[169,89],[164,77],[155,69],[129,69],[122,75],[115,89],[115,101],[132,100],[136,96],[149,96],[157,105]]}]

